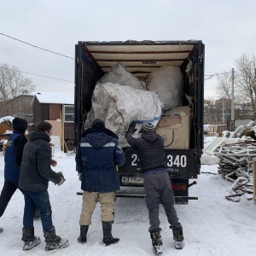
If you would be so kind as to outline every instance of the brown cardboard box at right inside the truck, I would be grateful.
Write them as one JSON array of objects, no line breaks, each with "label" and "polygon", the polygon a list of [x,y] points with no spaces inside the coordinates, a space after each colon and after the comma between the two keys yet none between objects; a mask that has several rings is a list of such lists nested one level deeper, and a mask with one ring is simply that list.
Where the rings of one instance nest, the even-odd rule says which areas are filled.
[{"label": "brown cardboard box at right inside the truck", "polygon": [[166,113],[169,118],[177,114],[180,123],[166,127],[156,127],[156,133],[164,138],[165,148],[188,149],[190,139],[190,108],[177,107]]}]

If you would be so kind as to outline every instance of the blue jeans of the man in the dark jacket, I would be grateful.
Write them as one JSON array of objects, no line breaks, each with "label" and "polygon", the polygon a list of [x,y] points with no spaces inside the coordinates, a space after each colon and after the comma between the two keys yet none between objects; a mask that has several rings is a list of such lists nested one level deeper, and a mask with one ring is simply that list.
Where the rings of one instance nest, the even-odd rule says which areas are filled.
[{"label": "blue jeans of the man in the dark jacket", "polygon": [[43,230],[49,232],[53,227],[51,219],[51,207],[48,191],[27,191],[24,190],[25,207],[23,215],[24,229],[33,229],[33,216],[36,205],[41,213]]}]

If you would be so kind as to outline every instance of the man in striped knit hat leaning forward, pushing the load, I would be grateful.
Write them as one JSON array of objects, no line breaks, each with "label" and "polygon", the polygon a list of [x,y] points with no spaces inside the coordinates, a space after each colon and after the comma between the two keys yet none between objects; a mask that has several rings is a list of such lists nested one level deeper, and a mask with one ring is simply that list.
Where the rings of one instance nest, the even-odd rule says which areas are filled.
[{"label": "man in striped knit hat leaning forward, pushing the load", "polygon": [[143,172],[143,185],[146,191],[146,205],[150,227],[148,229],[152,239],[155,254],[162,253],[162,239],[160,235],[159,203],[163,205],[166,217],[172,229],[175,247],[183,248],[183,227],[178,222],[177,212],[174,208],[174,195],[168,172],[164,139],[154,131],[154,125],[143,125],[142,137],[132,137],[134,125],[131,124],[126,133],[127,142],[137,151]]}]

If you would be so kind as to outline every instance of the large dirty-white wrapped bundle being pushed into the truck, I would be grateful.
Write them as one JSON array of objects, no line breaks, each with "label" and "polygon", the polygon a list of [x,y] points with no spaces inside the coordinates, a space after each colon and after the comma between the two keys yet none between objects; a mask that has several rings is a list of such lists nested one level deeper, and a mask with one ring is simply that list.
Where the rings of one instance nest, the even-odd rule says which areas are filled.
[{"label": "large dirty-white wrapped bundle being pushed into the truck", "polygon": [[121,148],[130,147],[125,133],[131,122],[156,125],[163,105],[153,91],[112,83],[96,84],[91,104],[84,128],[88,129],[94,119],[102,119],[106,128],[119,136]]}]

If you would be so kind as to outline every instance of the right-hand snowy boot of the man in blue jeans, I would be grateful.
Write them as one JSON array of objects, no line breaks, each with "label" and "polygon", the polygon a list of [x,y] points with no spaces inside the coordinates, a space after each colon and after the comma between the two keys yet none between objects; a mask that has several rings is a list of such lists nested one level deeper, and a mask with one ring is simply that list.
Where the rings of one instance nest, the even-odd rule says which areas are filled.
[{"label": "right-hand snowy boot of the man in blue jeans", "polygon": [[56,236],[54,226],[48,232],[44,231],[44,238],[46,242],[45,251],[61,249],[69,244],[67,239],[61,239],[60,236]]}]

